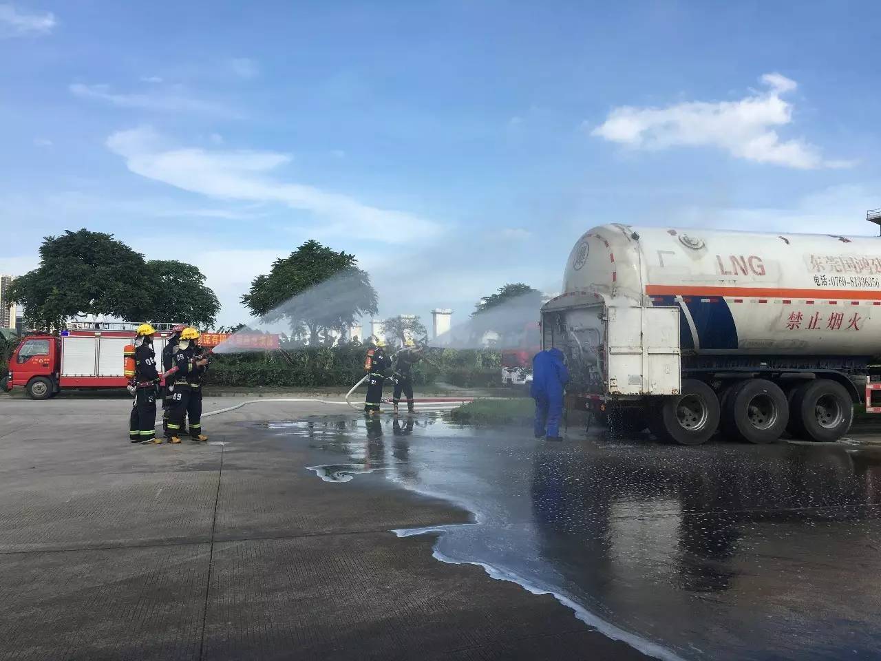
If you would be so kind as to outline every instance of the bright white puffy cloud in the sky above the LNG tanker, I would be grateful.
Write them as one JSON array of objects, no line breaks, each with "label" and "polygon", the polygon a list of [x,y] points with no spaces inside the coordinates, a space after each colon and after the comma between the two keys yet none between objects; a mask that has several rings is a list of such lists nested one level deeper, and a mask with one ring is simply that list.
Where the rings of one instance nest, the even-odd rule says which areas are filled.
[{"label": "bright white puffy cloud in the sky above the LNG tanker", "polygon": [[661,150],[674,146],[714,146],[738,159],[799,169],[850,167],[845,160],[824,160],[818,148],[801,138],[781,140],[774,127],[792,123],[792,104],[781,95],[796,81],[766,73],[765,92],[736,101],[687,101],[666,108],[621,106],[590,131],[633,149]]}]

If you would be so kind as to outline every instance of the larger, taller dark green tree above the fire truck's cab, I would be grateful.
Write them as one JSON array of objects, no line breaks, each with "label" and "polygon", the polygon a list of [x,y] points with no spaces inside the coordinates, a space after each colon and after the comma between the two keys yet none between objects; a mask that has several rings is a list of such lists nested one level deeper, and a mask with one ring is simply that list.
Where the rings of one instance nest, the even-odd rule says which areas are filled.
[{"label": "larger, taller dark green tree above the fire truck's cab", "polygon": [[10,299],[25,308],[28,325],[49,331],[77,314],[136,319],[150,308],[144,256],[112,234],[66,231],[47,236],[40,266],[13,280]]}]

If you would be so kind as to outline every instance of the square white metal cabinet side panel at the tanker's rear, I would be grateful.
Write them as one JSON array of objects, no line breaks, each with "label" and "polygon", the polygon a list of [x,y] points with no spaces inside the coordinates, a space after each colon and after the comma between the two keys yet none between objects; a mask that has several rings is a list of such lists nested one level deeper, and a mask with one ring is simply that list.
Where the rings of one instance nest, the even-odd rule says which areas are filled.
[{"label": "square white metal cabinet side panel at the tanker's rear", "polygon": [[679,309],[606,308],[607,382],[613,395],[677,395]]}]

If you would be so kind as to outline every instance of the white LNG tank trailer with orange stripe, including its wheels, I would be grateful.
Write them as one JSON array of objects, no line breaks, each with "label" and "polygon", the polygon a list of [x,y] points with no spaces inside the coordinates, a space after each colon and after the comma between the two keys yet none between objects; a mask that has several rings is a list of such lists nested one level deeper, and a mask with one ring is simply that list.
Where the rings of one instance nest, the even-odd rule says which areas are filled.
[{"label": "white LNG tank trailer with orange stripe, including its wheels", "polygon": [[747,442],[833,441],[855,404],[881,412],[881,239],[595,227],[542,335],[566,353],[567,405],[613,426],[687,445],[720,426]]}]

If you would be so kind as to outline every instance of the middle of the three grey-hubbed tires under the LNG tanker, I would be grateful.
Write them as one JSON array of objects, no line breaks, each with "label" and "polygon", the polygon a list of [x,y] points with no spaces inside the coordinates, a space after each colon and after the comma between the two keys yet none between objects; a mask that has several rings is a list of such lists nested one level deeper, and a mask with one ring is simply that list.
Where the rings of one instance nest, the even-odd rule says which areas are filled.
[{"label": "middle of the three grey-hubbed tires under the LNG tanker", "polygon": [[722,418],[726,431],[741,441],[771,443],[786,429],[789,405],[776,383],[748,379],[729,392]]}]

